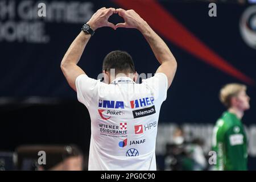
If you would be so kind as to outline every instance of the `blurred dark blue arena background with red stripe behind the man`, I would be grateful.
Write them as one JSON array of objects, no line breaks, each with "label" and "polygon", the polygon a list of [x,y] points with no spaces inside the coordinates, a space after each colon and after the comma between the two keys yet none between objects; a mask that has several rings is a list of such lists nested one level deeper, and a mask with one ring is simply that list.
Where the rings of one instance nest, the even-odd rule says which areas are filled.
[{"label": "blurred dark blue arena background with red stripe behind the man", "polygon": [[[46,4],[46,17],[38,4]],[[217,16],[210,17],[210,2]],[[82,24],[101,7],[134,9],[164,39],[178,69],[160,111],[159,170],[210,170],[215,122],[225,111],[221,86],[247,85],[251,109],[242,118],[249,169],[256,170],[256,4],[253,0],[0,0],[0,170],[72,170],[88,167],[90,117],[60,70]],[[110,22],[122,22],[113,15]],[[102,60],[120,49],[138,73],[155,73],[158,61],[137,30],[99,28],[79,65],[92,78]],[[46,151],[46,165],[36,164]]]}]

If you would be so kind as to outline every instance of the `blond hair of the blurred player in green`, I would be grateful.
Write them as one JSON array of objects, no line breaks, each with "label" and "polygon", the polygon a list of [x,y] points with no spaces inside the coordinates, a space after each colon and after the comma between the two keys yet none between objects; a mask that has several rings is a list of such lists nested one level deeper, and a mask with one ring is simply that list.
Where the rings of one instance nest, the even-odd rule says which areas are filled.
[{"label": "blond hair of the blurred player in green", "polygon": [[242,90],[246,90],[246,86],[243,84],[226,84],[220,90],[220,101],[226,107],[231,106],[231,98],[236,97]]}]

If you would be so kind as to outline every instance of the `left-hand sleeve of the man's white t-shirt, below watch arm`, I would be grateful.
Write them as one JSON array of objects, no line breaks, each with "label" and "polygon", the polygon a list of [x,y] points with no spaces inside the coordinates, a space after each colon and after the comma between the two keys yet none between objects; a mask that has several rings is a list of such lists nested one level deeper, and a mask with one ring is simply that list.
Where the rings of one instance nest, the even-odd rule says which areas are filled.
[{"label": "left-hand sleeve of the man's white t-shirt, below watch arm", "polygon": [[92,98],[97,96],[100,83],[100,80],[89,78],[85,74],[79,75],[76,78],[77,100],[88,107]]}]

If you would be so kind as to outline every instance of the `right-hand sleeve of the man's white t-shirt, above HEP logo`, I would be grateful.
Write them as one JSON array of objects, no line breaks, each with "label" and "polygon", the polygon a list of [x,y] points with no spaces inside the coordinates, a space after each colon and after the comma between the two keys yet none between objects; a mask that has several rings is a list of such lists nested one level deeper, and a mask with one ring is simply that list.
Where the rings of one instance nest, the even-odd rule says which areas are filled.
[{"label": "right-hand sleeve of the man's white t-shirt, above HEP logo", "polygon": [[164,73],[155,73],[154,76],[143,80],[148,87],[154,90],[155,99],[165,101],[167,98],[168,78]]}]

